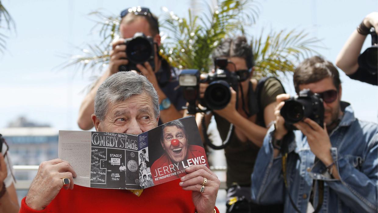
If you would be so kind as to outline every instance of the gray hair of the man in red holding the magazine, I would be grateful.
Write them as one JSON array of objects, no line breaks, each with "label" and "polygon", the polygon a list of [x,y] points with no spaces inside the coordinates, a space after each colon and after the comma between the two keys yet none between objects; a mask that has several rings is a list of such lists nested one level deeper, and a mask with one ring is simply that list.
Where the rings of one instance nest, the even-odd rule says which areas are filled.
[{"label": "gray hair of the man in red holding the magazine", "polygon": [[150,96],[155,118],[158,118],[160,115],[159,96],[155,88],[145,76],[133,72],[118,72],[102,82],[95,97],[95,115],[103,121],[109,103],[119,103],[142,93]]}]

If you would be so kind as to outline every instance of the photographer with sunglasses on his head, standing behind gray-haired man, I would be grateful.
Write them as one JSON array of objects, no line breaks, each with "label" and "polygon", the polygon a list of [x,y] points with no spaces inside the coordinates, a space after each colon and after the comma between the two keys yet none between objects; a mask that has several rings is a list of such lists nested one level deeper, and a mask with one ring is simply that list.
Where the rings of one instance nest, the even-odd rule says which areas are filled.
[{"label": "photographer with sunglasses on his head, standing behind gray-haired man", "polygon": [[[159,125],[183,117],[182,107],[185,106],[186,101],[182,96],[182,89],[178,88],[178,70],[170,67],[168,62],[158,55],[160,35],[157,17],[148,8],[134,7],[122,11],[121,18],[119,31],[122,38],[112,44],[113,50],[110,52],[109,67],[95,82],[80,106],[77,124],[83,130],[89,130],[93,127],[91,114],[94,112],[94,98],[98,87],[108,76],[117,73],[121,65],[130,64],[126,55],[125,39],[132,38],[135,33],[143,33],[153,39],[153,61],[136,64],[135,67],[149,79],[158,92],[161,110]],[[153,67],[155,68],[153,69]]]}]

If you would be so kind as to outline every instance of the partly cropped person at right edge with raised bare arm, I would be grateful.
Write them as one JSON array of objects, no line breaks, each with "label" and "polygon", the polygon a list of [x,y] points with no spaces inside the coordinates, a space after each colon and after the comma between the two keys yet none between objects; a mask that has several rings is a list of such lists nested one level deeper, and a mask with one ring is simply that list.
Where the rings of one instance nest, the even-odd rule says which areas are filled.
[{"label": "partly cropped person at right edge with raised bare arm", "polygon": [[[375,28],[376,37],[376,33],[378,33],[378,12],[368,14],[357,29],[353,31],[352,35],[350,35],[349,39],[336,58],[336,66],[344,71],[349,78],[372,85],[378,85],[376,49],[373,50],[372,48],[371,58],[365,56],[367,61],[362,60],[362,64],[359,63],[362,45],[364,44],[367,35],[370,34],[371,28]],[[375,45],[376,47],[376,41],[372,43],[375,43],[372,45]],[[375,51],[375,54],[373,51]],[[372,65],[368,65],[370,63]],[[371,68],[369,66],[371,66]]]}]

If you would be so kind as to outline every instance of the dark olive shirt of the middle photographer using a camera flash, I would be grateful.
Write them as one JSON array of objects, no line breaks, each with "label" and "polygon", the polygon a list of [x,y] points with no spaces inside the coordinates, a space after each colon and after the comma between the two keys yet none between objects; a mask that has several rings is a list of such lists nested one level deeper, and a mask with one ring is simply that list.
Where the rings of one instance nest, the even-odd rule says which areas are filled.
[{"label": "dark olive shirt of the middle photographer using a camera flash", "polygon": [[[252,90],[252,88],[250,87]],[[261,90],[261,98],[259,103],[259,112],[257,112],[257,118],[263,119],[263,113],[266,106],[276,101],[276,96],[284,93],[284,89],[281,83],[275,78],[269,78],[264,83]],[[249,94],[249,98],[256,100],[257,94],[253,91]],[[249,100],[248,100],[249,101]],[[259,114],[262,113],[262,116]],[[222,140],[225,140],[230,123],[214,113],[215,121],[217,122],[218,132]],[[266,127],[264,121],[257,119],[256,124]],[[231,187],[232,183],[238,183],[240,186],[251,185],[251,174],[253,172],[253,166],[259,152],[259,147],[252,141],[242,142],[237,138],[236,134],[232,134],[229,145],[225,148],[225,156],[227,162],[226,172],[226,184],[227,187]]]}]

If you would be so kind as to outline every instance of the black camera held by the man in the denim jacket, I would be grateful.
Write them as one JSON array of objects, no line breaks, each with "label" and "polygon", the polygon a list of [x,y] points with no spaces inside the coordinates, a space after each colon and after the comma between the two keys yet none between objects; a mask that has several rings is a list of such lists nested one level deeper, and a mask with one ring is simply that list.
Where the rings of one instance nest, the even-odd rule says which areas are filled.
[{"label": "black camera held by the man in the denim jacket", "polygon": [[293,124],[304,118],[310,118],[323,127],[324,106],[320,95],[304,89],[299,95],[285,101],[281,108],[281,116],[285,119],[285,126],[288,130],[296,129]]}]

